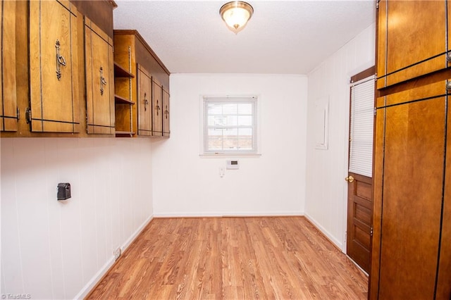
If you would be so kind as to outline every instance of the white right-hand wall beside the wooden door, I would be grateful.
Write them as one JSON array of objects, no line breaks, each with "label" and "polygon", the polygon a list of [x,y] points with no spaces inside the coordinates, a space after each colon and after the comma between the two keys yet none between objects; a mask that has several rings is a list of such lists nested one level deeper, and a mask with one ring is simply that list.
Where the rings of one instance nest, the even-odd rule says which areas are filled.
[{"label": "white right-hand wall beside the wooden door", "polygon": [[[371,25],[308,74],[307,193],[305,215],[343,251],[346,249],[347,152],[350,77],[374,65]],[[316,101],[329,99],[328,150],[315,149]]]}]

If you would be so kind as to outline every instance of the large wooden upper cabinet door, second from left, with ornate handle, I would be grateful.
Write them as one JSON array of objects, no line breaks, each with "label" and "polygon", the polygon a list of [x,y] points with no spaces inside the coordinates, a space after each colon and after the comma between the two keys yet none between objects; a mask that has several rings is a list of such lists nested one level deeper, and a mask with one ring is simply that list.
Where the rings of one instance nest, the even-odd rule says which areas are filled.
[{"label": "large wooden upper cabinet door, second from left, with ornate handle", "polygon": [[78,11],[69,1],[30,1],[30,102],[34,132],[80,132]]}]

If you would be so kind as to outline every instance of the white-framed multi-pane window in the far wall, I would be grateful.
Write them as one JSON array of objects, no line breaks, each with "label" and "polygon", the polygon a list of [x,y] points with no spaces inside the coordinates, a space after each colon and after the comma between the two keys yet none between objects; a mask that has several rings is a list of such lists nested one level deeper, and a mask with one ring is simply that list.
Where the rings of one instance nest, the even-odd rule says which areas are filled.
[{"label": "white-framed multi-pane window in the far wall", "polygon": [[257,97],[204,97],[203,154],[257,154]]}]

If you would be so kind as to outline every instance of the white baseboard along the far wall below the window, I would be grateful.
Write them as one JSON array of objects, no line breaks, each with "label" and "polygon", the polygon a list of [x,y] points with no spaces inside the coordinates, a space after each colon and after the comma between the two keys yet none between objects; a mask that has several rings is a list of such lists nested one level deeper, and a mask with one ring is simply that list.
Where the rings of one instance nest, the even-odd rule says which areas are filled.
[{"label": "white baseboard along the far wall below the window", "polygon": [[266,217],[304,215],[303,211],[259,211],[259,212],[204,212],[204,213],[154,213],[155,218],[209,218],[209,217]]}]

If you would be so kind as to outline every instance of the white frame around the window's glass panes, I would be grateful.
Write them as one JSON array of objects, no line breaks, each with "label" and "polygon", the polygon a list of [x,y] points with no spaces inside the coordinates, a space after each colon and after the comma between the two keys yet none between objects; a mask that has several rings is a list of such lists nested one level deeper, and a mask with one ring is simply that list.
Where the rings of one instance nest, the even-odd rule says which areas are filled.
[{"label": "white frame around the window's glass panes", "polygon": [[[208,137],[208,111],[206,110],[206,104],[211,102],[221,103],[237,103],[237,102],[252,102],[253,103],[253,122],[252,122],[252,138],[253,149],[230,149],[230,150],[211,150],[206,149],[207,137]],[[260,130],[259,130],[259,116],[260,101],[258,96],[201,96],[200,97],[200,144],[199,155],[200,156],[260,156]],[[237,126],[238,127],[238,126]]]}]

